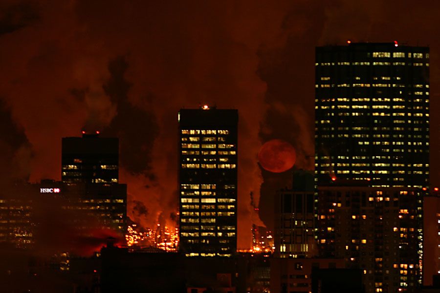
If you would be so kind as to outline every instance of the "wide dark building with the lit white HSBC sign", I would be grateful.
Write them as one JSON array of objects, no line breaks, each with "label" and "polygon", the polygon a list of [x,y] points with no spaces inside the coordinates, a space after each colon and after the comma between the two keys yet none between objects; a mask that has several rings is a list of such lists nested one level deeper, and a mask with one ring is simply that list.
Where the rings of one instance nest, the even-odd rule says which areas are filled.
[{"label": "wide dark building with the lit white HSBC sign", "polygon": [[0,242],[20,248],[31,247],[35,237],[43,243],[49,241],[45,240],[49,229],[53,235],[48,236],[52,238],[97,237],[105,230],[123,237],[126,218],[124,184],[72,185],[43,180],[40,184],[17,184],[0,192]]}]

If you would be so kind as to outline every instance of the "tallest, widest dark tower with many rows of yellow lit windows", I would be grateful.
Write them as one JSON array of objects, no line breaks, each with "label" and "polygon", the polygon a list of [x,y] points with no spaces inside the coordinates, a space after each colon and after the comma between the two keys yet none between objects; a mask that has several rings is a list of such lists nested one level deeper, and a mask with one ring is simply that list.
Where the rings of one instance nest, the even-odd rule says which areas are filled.
[{"label": "tallest, widest dark tower with many rows of yellow lit windows", "polygon": [[315,173],[371,186],[429,180],[429,48],[349,43],[316,48]]}]

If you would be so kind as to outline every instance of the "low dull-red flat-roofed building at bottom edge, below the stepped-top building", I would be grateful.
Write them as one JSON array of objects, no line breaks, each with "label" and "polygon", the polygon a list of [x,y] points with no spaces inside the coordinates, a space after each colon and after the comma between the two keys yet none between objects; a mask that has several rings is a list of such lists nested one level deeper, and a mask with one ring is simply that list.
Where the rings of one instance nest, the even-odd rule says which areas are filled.
[{"label": "low dull-red flat-roofed building at bottom edge, below the stepped-top building", "polygon": [[343,269],[344,259],[279,258],[270,259],[270,292],[311,292],[313,269]]}]

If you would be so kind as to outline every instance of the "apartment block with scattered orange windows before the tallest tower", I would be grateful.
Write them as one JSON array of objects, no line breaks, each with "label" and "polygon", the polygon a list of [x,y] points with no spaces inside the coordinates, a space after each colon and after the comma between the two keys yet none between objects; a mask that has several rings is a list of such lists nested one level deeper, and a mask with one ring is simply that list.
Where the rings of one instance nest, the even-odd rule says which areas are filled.
[{"label": "apartment block with scattered orange windows before the tallest tower", "polygon": [[322,257],[344,258],[365,273],[365,289],[412,292],[421,284],[422,193],[419,188],[318,187]]}]

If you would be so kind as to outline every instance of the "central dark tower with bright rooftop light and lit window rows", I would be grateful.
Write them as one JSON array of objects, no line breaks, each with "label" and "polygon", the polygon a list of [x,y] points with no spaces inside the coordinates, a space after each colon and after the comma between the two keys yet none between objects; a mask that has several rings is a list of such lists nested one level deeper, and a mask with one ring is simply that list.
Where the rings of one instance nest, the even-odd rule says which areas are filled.
[{"label": "central dark tower with bright rooftop light and lit window rows", "polygon": [[237,249],[237,110],[179,112],[180,251],[231,256]]}]

